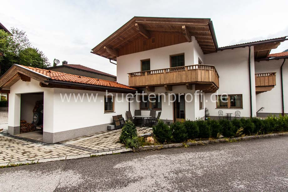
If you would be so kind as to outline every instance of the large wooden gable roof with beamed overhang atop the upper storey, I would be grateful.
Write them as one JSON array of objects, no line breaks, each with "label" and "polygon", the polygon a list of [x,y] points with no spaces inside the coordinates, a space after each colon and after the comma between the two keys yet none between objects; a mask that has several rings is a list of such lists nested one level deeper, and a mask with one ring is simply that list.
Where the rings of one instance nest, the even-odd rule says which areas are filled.
[{"label": "large wooden gable roof with beamed overhang atop the upper storey", "polygon": [[191,42],[191,36],[198,41],[204,54],[218,49],[209,18],[133,17],[91,53],[116,61],[124,54]]}]

